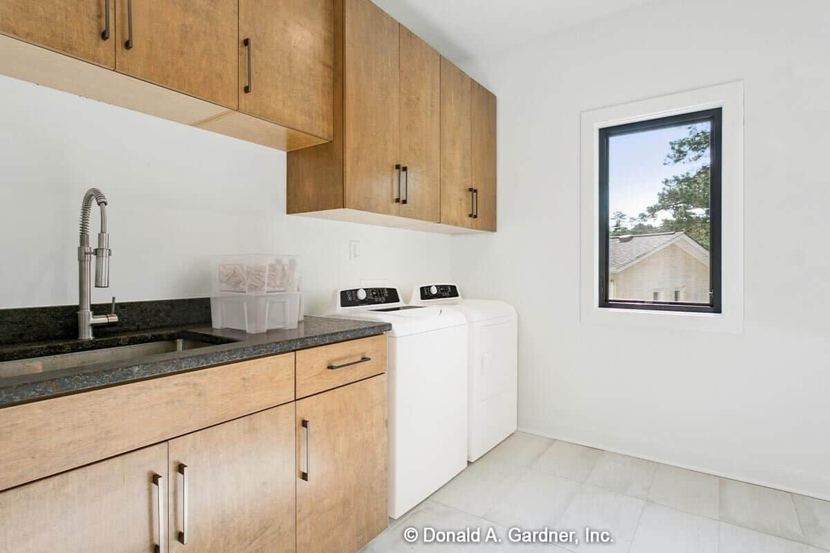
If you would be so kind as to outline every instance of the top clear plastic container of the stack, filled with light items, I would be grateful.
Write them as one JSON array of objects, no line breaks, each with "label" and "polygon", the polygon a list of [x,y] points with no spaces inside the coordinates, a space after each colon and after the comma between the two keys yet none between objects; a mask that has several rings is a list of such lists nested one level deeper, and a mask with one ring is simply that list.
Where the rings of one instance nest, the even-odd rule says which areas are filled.
[{"label": "top clear plastic container of the stack, filled with light items", "polygon": [[225,293],[296,292],[300,258],[296,255],[213,255],[213,296]]}]

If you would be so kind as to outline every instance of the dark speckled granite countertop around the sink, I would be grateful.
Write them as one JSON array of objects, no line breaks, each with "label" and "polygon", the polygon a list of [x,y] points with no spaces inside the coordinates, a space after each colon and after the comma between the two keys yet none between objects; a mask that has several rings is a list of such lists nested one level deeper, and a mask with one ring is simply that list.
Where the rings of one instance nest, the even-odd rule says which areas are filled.
[{"label": "dark speckled granite countertop around the sink", "polygon": [[[342,318],[305,317],[293,330],[271,330],[247,334],[237,330],[216,330],[209,323],[178,325],[110,334],[96,338],[88,349],[128,346],[184,338],[214,345],[136,357],[126,361],[107,361],[54,371],[32,372],[17,376],[0,376],[0,408],[56,395],[66,395],[105,386],[116,386],[155,376],[193,371],[207,366],[255,357],[293,352],[306,347],[325,346],[354,338],[374,336],[391,330],[388,323],[354,321]],[[2,361],[57,355],[79,351],[77,340],[24,342],[0,346]]]}]

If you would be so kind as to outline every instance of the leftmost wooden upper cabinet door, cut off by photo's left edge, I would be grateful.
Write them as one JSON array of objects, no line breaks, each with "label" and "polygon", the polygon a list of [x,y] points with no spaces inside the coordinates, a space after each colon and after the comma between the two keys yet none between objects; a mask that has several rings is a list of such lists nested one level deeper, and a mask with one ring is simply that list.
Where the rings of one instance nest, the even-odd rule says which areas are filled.
[{"label": "leftmost wooden upper cabinet door, cut off by photo's left edge", "polygon": [[113,2],[0,0],[0,32],[111,69],[115,67]]}]

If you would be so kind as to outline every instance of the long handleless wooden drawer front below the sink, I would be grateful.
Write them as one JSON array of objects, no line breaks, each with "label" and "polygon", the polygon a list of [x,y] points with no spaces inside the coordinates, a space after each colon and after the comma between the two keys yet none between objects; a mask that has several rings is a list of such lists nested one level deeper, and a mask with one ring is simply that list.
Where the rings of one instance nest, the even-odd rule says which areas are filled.
[{"label": "long handleless wooden drawer front below the sink", "polygon": [[294,354],[0,409],[0,490],[294,399]]}]

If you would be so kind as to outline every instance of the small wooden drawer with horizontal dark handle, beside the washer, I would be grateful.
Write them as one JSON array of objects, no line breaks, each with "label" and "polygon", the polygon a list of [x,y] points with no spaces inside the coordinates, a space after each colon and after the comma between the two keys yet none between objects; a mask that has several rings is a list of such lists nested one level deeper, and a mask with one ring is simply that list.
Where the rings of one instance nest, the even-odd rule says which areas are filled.
[{"label": "small wooden drawer with horizontal dark handle, beside the washer", "polygon": [[386,372],[386,336],[297,352],[297,398]]}]

